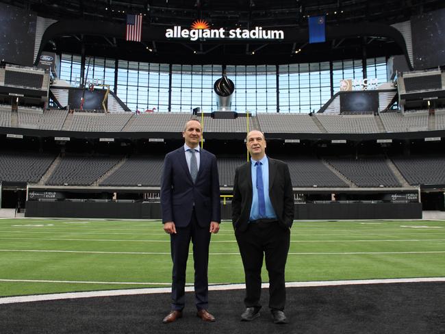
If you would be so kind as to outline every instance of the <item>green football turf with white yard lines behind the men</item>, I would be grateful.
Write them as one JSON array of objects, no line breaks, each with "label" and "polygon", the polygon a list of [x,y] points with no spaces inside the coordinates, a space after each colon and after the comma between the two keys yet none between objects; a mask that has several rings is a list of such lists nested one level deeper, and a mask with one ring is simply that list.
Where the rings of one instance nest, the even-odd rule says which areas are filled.
[{"label": "green football turf with white yard lines behind the men", "polygon": [[[286,281],[445,277],[444,259],[442,221],[296,221]],[[190,255],[188,283],[192,268]],[[170,287],[170,281],[170,239],[159,221],[0,220],[0,296]],[[209,283],[243,282],[233,229],[223,222],[210,244]]]}]

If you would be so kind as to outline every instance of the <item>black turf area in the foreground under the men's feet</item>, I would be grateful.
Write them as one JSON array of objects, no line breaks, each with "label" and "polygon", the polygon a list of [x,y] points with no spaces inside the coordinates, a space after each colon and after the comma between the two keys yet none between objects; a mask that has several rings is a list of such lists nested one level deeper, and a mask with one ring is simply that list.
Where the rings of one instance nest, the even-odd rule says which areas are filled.
[{"label": "black turf area in the foreground under the men's feet", "polygon": [[[288,288],[289,324],[273,324],[267,307],[241,322],[244,290],[210,291],[216,322],[196,318],[186,293],[183,318],[163,324],[170,294],[112,296],[0,305],[2,334],[246,333],[443,334],[445,283],[391,283]],[[263,291],[262,305],[268,303]]]}]

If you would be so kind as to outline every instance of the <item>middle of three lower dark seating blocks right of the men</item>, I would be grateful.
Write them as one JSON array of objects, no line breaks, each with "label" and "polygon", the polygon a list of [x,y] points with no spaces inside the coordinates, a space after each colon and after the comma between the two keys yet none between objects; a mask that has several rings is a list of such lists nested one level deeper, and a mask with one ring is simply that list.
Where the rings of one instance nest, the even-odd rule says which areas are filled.
[{"label": "middle of three lower dark seating blocks right of the men", "polygon": [[359,187],[401,186],[383,158],[329,158],[327,162]]}]

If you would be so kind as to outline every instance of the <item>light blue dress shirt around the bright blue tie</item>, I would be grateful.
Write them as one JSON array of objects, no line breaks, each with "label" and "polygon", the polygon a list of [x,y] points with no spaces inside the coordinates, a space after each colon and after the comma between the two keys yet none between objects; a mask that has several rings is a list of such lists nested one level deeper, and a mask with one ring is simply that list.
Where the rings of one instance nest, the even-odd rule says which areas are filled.
[{"label": "light blue dress shirt around the bright blue tie", "polygon": [[264,185],[264,203],[266,204],[266,216],[259,216],[259,205],[258,205],[258,193],[257,193],[257,160],[251,159],[251,172],[252,172],[252,207],[251,207],[251,216],[249,220],[257,220],[257,219],[277,219],[277,215],[275,214],[275,210],[272,207],[272,203],[270,203],[269,197],[269,160],[267,155],[259,160],[262,163],[262,174],[263,174],[263,185]]}]

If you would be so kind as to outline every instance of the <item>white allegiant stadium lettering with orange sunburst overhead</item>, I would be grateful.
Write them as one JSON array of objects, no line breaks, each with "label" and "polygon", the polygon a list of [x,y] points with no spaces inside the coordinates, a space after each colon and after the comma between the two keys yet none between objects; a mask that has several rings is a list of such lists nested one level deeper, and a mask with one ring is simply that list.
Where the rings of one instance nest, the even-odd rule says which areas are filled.
[{"label": "white allegiant stadium lettering with orange sunburst overhead", "polygon": [[166,38],[188,38],[192,41],[205,39],[240,39],[240,40],[283,40],[283,30],[265,30],[262,27],[254,29],[209,29],[206,21],[194,21],[190,29],[175,25],[173,29],[166,29]]}]

